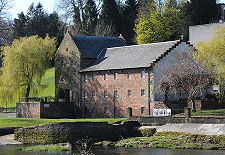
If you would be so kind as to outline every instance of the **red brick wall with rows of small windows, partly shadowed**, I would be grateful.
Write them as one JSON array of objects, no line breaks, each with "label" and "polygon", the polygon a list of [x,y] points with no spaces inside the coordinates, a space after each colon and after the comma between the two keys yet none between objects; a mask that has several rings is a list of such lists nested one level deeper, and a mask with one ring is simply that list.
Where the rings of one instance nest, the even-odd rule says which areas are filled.
[{"label": "red brick wall with rows of small windows, partly shadowed", "polygon": [[[100,71],[82,73],[82,104],[81,107],[86,113],[86,117],[114,117],[114,107],[118,107],[118,115],[115,117],[125,117],[126,109],[132,108],[134,116],[148,115],[148,70],[145,70],[145,78],[141,78],[141,71],[144,69],[127,69],[114,71]],[[131,78],[128,79],[128,72],[131,72]],[[107,73],[108,80],[104,80]],[[114,79],[114,74],[118,73],[118,79]],[[87,81],[84,75],[87,74]],[[93,81],[92,76],[96,75]],[[141,96],[141,90],[145,90],[145,96]],[[114,100],[114,90],[117,90],[118,97]],[[131,96],[128,97],[128,90],[131,90]],[[84,98],[84,91],[87,92],[87,98]],[[92,92],[95,91],[95,98]],[[104,97],[104,91],[107,91],[108,97]],[[115,105],[115,106],[114,106]],[[86,107],[86,109],[85,109]],[[95,107],[95,113],[92,112]],[[108,115],[105,115],[105,107],[108,108]],[[141,114],[141,107],[145,107],[144,114]]]}]

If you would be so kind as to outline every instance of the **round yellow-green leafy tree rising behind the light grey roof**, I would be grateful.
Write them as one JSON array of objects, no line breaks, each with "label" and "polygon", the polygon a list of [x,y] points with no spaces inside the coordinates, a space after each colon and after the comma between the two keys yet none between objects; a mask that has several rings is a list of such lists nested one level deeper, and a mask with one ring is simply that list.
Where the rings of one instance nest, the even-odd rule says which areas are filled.
[{"label": "round yellow-green leafy tree rising behind the light grey roof", "polygon": [[149,15],[139,14],[136,24],[138,44],[176,40],[183,31],[183,19],[180,10],[171,8],[170,2],[152,3]]}]

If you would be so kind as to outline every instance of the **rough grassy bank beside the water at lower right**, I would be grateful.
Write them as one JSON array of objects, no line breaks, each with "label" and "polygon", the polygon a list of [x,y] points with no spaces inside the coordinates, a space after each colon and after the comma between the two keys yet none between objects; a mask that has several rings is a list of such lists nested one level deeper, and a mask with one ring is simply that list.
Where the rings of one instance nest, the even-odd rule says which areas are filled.
[{"label": "rough grassy bank beside the water at lower right", "polygon": [[169,149],[225,149],[225,135],[196,135],[184,132],[156,132],[151,137],[133,137],[118,142],[101,142],[98,145],[134,147],[134,148],[169,148]]}]

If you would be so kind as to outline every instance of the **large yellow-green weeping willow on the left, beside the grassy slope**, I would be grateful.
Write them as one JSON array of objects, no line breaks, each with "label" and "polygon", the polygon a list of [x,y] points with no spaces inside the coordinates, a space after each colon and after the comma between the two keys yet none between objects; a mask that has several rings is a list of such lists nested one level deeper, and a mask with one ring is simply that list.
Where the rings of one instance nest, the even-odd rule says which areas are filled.
[{"label": "large yellow-green weeping willow on the left, beside the grassy slope", "polygon": [[3,63],[0,69],[0,98],[13,100],[29,97],[37,92],[41,79],[56,50],[56,39],[46,36],[22,37],[2,47]]}]

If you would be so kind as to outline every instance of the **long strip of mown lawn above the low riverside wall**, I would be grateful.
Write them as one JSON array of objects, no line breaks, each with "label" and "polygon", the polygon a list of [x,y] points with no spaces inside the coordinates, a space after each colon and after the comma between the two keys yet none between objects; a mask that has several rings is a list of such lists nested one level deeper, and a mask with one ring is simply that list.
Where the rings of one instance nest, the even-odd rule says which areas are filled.
[{"label": "long strip of mown lawn above the low riverside wall", "polygon": [[0,117],[0,128],[6,127],[28,127],[39,124],[57,123],[57,122],[108,122],[126,121],[126,118],[90,118],[90,119],[31,119],[31,118],[8,118]]}]

